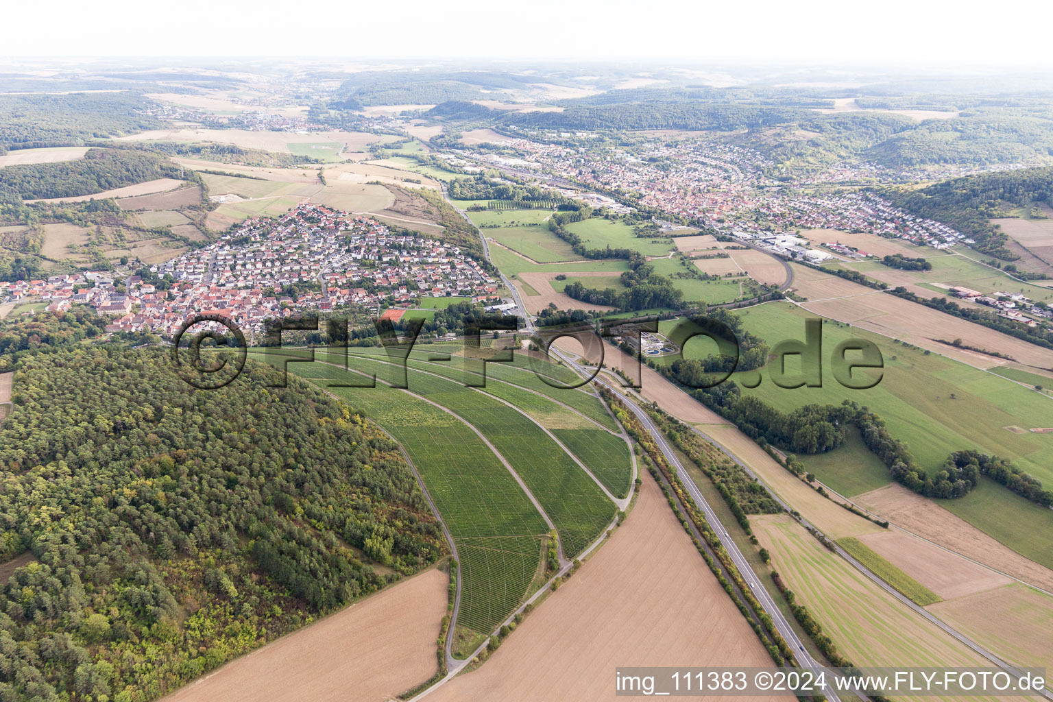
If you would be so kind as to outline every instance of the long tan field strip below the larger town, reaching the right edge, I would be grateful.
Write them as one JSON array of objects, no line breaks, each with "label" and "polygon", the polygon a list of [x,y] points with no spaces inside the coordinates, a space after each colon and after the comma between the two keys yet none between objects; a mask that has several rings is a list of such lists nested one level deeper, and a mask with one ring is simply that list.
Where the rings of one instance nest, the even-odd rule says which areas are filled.
[{"label": "long tan field strip below the larger town, reaching the right edge", "polygon": [[989,367],[991,358],[955,353],[933,340],[968,339],[972,346],[996,349],[1027,365],[1053,366],[1053,352],[1049,349],[843,278],[801,265],[791,266],[794,288],[810,300],[801,306],[820,317],[901,339],[979,368]]}]

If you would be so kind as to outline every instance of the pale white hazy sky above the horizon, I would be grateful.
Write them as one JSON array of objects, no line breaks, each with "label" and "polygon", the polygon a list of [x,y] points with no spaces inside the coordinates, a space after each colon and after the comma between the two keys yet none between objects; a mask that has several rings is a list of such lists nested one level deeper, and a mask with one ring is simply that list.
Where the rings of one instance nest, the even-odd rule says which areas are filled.
[{"label": "pale white hazy sky above the horizon", "polygon": [[0,56],[678,59],[1049,66],[1053,2],[6,2]]}]

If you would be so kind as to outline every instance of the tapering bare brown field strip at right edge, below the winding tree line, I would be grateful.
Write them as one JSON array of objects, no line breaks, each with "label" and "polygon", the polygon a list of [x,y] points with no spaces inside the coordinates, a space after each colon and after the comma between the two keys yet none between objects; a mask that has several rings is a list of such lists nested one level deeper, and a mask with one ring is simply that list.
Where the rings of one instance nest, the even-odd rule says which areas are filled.
[{"label": "tapering bare brown field strip at right edge, below the winding tree line", "polygon": [[1053,570],[1020,556],[938,504],[893,483],[853,498],[882,519],[1013,578],[1053,590]]}]

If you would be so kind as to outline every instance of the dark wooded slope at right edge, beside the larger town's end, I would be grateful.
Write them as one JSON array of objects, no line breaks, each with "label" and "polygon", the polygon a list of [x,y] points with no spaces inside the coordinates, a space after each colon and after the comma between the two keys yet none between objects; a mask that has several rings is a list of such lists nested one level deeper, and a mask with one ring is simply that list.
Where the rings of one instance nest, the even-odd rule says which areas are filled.
[{"label": "dark wooded slope at right edge, beside the larger town's end", "polygon": [[975,239],[973,247],[984,254],[1014,260],[1018,257],[1005,246],[1008,238],[988,220],[1036,202],[1053,205],[1053,167],[966,176],[881,195],[916,217],[943,222]]}]

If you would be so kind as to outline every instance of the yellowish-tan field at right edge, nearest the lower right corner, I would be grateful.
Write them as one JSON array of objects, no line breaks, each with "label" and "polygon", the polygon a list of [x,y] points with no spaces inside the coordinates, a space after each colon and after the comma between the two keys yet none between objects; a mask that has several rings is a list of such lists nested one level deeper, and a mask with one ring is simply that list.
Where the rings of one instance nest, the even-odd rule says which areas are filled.
[{"label": "yellowish-tan field at right edge, nearest the lower right corner", "polygon": [[1053,668],[1053,598],[1013,583],[926,607],[1011,663]]}]

